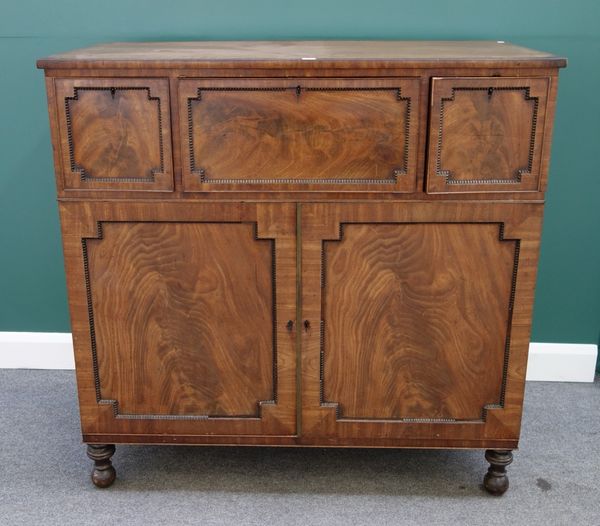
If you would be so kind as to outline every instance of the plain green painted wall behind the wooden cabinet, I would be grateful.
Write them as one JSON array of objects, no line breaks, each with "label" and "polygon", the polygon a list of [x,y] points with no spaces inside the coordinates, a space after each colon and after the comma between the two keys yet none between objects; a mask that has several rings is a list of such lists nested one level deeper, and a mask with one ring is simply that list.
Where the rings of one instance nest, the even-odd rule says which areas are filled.
[{"label": "plain green painted wall behind the wooden cabinet", "polygon": [[569,58],[560,82],[533,339],[597,343],[599,28],[597,0],[3,2],[0,330],[69,330],[37,58],[115,40],[493,39]]}]

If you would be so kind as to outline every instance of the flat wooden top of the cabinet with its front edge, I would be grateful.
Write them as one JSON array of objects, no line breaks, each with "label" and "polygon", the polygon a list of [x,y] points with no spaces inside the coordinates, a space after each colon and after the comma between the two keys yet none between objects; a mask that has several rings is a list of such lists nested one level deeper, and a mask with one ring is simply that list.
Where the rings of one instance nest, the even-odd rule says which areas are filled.
[{"label": "flat wooden top of the cabinet with its front edge", "polygon": [[117,42],[40,59],[39,68],[564,67],[566,59],[496,41]]}]

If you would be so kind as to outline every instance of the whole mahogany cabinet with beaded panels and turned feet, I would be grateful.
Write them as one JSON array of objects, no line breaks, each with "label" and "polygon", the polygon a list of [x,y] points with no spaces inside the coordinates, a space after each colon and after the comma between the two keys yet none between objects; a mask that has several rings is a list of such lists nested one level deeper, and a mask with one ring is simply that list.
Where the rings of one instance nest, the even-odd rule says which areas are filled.
[{"label": "whole mahogany cabinet with beaded panels and turned feet", "polygon": [[42,59],[83,440],[518,445],[558,69],[496,42]]}]

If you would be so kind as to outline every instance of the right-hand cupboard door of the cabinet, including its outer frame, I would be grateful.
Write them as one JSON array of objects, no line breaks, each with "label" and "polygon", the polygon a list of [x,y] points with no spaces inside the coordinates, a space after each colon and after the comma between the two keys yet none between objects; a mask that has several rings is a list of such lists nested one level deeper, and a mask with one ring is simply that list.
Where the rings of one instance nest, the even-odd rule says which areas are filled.
[{"label": "right-hand cupboard door of the cabinet, including its outer frame", "polygon": [[515,445],[541,211],[303,205],[305,442]]}]

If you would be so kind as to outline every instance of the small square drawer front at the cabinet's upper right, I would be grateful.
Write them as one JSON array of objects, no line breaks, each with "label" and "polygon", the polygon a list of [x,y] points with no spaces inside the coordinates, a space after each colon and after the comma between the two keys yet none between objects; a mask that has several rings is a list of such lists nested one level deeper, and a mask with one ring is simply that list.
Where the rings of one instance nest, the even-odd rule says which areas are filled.
[{"label": "small square drawer front at the cabinet's upper right", "polygon": [[547,78],[434,78],[427,191],[538,191]]}]

